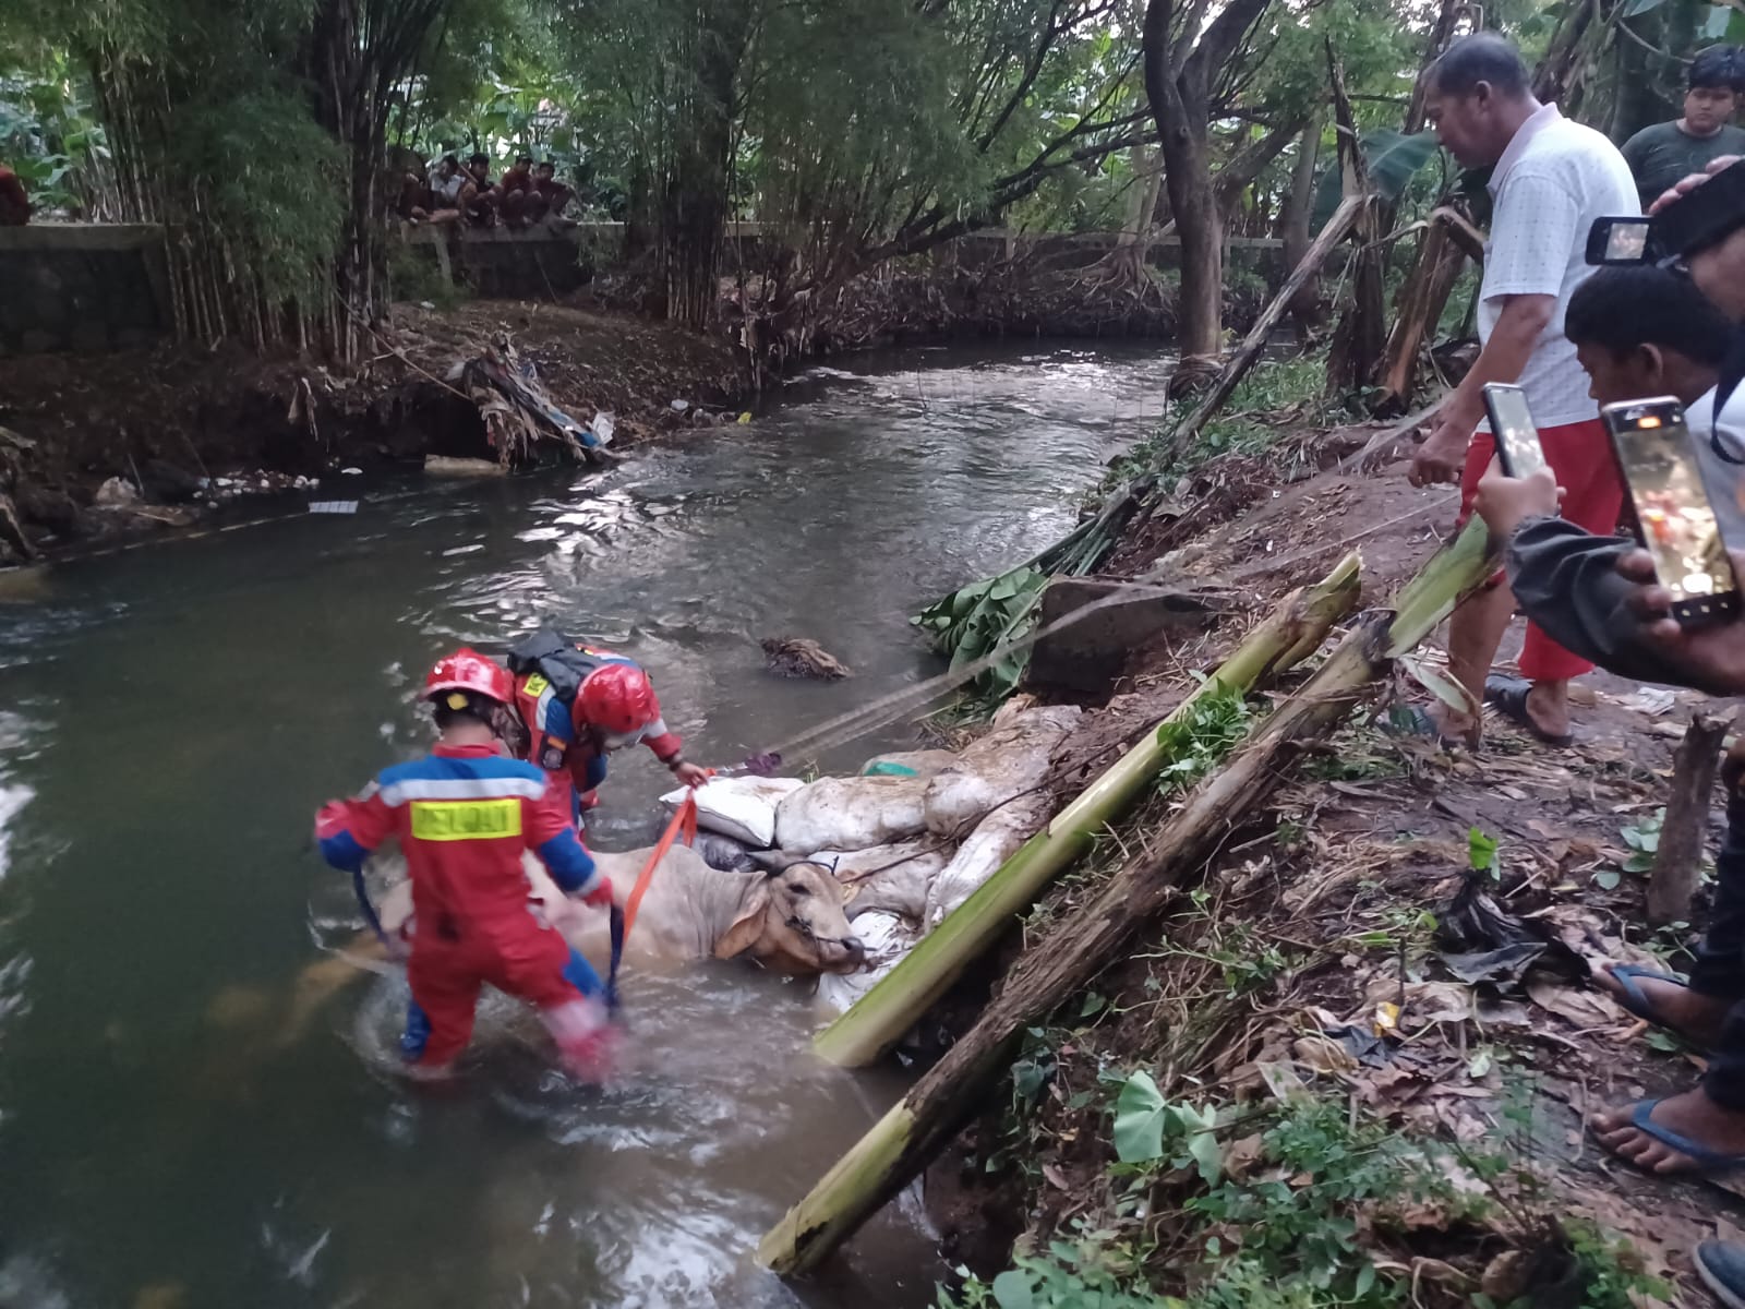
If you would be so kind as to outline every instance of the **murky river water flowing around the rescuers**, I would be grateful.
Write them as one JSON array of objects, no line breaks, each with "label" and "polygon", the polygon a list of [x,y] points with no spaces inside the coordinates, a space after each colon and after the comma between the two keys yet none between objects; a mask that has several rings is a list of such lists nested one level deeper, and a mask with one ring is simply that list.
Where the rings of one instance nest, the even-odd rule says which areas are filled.
[{"label": "murky river water flowing around the rescuers", "polygon": [[[0,578],[0,1309],[930,1304],[913,1204],[806,1286],[749,1258],[900,1091],[806,1058],[806,986],[628,977],[604,1093],[492,1005],[468,1075],[415,1091],[400,983],[323,953],[359,922],[309,819],[426,740],[433,653],[541,620],[642,660],[703,763],[937,672],[904,614],[1070,527],[1166,377],[907,354],[606,475],[365,487]],[[778,681],[773,634],[859,675]],[[644,845],[663,778],[616,763],[592,840]]]}]

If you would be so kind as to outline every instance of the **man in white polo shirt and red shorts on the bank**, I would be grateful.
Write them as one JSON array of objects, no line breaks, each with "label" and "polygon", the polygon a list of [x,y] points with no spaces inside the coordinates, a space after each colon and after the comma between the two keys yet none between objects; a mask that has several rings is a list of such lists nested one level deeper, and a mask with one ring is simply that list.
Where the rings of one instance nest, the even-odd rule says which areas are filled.
[{"label": "man in white polo shirt and red shorts on the bank", "polygon": [[[1483,386],[1515,382],[1527,391],[1544,456],[1565,489],[1564,517],[1611,532],[1623,487],[1598,407],[1588,398],[1588,375],[1564,337],[1564,307],[1591,272],[1586,241],[1593,220],[1640,211],[1635,178],[1600,133],[1534,98],[1520,52],[1495,33],[1462,37],[1426,79],[1436,138],[1464,168],[1495,168],[1478,305],[1483,349],[1438,408],[1434,429],[1412,461],[1412,483],[1459,482],[1464,522],[1495,449],[1482,429]],[[1455,609],[1448,668],[1475,703],[1485,698],[1541,740],[1565,745],[1569,681],[1593,665],[1529,623],[1523,677],[1490,675],[1513,614],[1515,597],[1501,576]],[[1438,728],[1445,737],[1478,744],[1475,716],[1440,712]]]}]

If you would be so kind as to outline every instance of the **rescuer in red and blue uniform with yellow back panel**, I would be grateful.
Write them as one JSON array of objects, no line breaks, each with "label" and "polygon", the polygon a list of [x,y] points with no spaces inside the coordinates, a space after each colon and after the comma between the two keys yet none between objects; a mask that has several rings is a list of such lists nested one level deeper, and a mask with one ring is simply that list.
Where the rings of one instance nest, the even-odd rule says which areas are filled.
[{"label": "rescuer in red and blue uniform with yellow back panel", "polygon": [[424,698],[441,733],[436,749],[316,817],[321,853],[335,867],[358,873],[391,836],[405,852],[414,930],[401,1052],[424,1075],[445,1073],[466,1049],[480,986],[490,983],[534,1005],[565,1066],[595,1080],[612,1042],[604,990],[541,916],[522,852],[532,850],[564,892],[588,904],[609,906],[612,887],[576,834],[569,796],[539,768],[503,754],[510,674],[461,649],[431,668]]}]

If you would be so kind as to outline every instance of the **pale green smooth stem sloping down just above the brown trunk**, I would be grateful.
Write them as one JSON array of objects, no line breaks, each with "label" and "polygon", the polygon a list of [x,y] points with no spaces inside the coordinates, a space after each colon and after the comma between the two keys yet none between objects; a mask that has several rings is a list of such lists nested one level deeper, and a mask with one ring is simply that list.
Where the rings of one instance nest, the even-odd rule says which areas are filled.
[{"label": "pale green smooth stem sloping down just above the brown trunk", "polygon": [[1345,555],[1305,592],[1293,592],[1237,646],[1199,689],[1159,723],[1138,745],[1031,836],[963,904],[921,937],[895,969],[831,1026],[818,1033],[817,1052],[850,1068],[879,1059],[913,1028],[972,960],[993,948],[1012,916],[1035,902],[1061,869],[1084,855],[1098,833],[1133,805],[1169,763],[1164,726],[1194,712],[1194,702],[1218,691],[1248,691],[1283,668],[1300,663],[1326,639],[1333,623],[1358,604],[1361,564]]}]

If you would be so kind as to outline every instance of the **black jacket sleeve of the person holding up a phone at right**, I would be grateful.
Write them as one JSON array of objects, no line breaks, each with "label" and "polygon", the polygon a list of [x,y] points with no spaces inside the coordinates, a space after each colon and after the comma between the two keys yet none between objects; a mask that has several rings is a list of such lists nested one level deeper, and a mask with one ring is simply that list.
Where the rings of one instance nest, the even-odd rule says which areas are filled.
[{"label": "black jacket sleeve of the person holding up a phone at right", "polygon": [[1666,656],[1639,639],[1640,623],[1625,606],[1633,588],[1618,576],[1618,560],[1632,550],[1619,536],[1534,517],[1509,538],[1504,567],[1522,613],[1558,646],[1619,677],[1665,682]]}]

